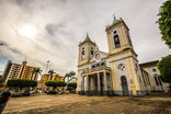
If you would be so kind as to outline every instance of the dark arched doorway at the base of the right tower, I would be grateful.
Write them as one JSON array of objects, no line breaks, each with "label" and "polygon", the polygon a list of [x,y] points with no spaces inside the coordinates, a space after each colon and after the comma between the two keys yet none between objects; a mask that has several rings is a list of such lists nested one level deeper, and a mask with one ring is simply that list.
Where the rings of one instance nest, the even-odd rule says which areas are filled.
[{"label": "dark arched doorway at the base of the right tower", "polygon": [[122,81],[123,95],[129,95],[126,77],[125,76],[122,76],[121,77],[121,81]]}]

